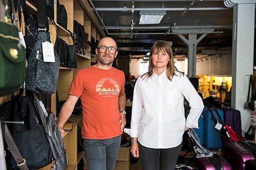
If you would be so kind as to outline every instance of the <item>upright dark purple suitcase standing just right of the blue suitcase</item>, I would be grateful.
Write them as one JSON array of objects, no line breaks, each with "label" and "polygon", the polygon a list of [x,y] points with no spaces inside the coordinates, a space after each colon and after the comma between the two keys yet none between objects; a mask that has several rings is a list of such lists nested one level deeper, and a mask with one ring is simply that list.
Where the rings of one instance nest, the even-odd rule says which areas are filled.
[{"label": "upright dark purple suitcase standing just right of the blue suitcase", "polygon": [[241,135],[242,128],[240,111],[230,107],[224,107],[221,108],[221,110],[224,112],[224,123]]}]

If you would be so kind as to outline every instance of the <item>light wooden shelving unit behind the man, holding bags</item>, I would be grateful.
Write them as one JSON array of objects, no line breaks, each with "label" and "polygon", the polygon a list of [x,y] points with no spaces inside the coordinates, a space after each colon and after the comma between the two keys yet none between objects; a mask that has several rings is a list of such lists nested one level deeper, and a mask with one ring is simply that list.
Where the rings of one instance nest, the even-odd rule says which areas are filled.
[{"label": "light wooden shelving unit behind the man, holding bags", "polygon": [[[31,3],[27,2],[27,8],[33,15],[37,15],[37,9],[35,6],[33,6]],[[73,21],[77,20],[81,25],[84,26],[84,31],[89,34],[88,41],[91,41],[91,36],[95,38],[95,40],[100,39],[100,33],[102,35],[102,30],[98,30],[99,25],[96,27],[94,26],[95,21],[92,22],[91,15],[93,14],[92,10],[90,9],[90,6],[88,6],[87,1],[83,0],[59,0],[59,4],[62,4],[65,6],[68,16],[68,25],[67,29],[73,33]],[[80,4],[83,4],[81,7]],[[85,4],[85,5],[84,5]],[[85,10],[84,8],[88,8],[88,10]],[[88,11],[89,14],[88,14]],[[56,41],[56,37],[60,37],[61,39],[65,40],[68,44],[73,44],[73,40],[71,38],[70,32],[61,27],[57,23],[57,7],[55,4],[54,7],[54,21],[56,23],[56,27],[52,25],[51,21],[49,20],[49,30],[51,35],[51,40],[53,43]],[[90,17],[89,17],[90,16]],[[93,17],[95,18],[95,16]],[[102,35],[105,36],[105,35]],[[70,88],[70,85],[72,83],[72,80],[76,74],[76,72],[79,69],[88,68],[91,66],[91,62],[96,61],[95,55],[91,55],[90,47],[86,50],[86,53],[84,55],[77,54],[77,69],[74,68],[67,68],[67,67],[59,67],[59,76],[58,76],[58,82],[57,82],[57,91],[58,91],[58,97],[59,101],[67,100],[68,98],[68,91]],[[56,94],[52,95],[52,111],[53,113],[56,113]],[[80,161],[80,159],[84,156],[84,152],[77,153],[77,125],[82,124],[82,118],[81,117],[70,117],[69,120],[74,123],[73,130],[72,131],[66,131],[65,136],[63,137],[63,142],[65,145],[66,153],[68,155],[68,162],[69,165],[66,169],[69,170],[76,170],[77,169],[77,163]],[[48,165],[41,169],[50,169],[51,165]]]}]

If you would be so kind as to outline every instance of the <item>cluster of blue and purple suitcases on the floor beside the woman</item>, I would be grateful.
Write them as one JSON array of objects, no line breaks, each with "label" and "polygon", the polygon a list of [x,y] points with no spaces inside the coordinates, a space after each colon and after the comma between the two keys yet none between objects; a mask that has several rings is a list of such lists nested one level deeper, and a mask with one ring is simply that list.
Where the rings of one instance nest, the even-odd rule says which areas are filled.
[{"label": "cluster of blue and purple suitcases on the floor beside the woman", "polygon": [[[241,136],[240,111],[205,105],[199,129],[189,129],[186,133],[194,153],[194,169],[255,170],[256,142],[245,141]],[[223,149],[223,152],[218,155],[209,149]]]}]

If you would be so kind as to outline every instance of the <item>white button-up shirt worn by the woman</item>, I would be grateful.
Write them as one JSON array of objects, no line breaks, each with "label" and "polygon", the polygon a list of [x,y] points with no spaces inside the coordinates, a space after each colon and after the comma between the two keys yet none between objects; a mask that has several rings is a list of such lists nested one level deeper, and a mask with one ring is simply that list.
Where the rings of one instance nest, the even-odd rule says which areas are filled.
[{"label": "white button-up shirt worn by the woman", "polygon": [[[179,72],[172,81],[161,75],[138,78],[133,96],[131,129],[124,132],[147,148],[173,148],[182,141],[185,126],[198,128],[204,105],[188,78]],[[184,97],[191,107],[185,119]]]}]

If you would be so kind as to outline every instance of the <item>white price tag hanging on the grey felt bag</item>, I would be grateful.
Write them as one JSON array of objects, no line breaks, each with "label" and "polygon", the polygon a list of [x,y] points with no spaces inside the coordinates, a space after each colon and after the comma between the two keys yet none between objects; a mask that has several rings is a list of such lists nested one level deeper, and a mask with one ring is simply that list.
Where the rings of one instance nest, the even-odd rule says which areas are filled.
[{"label": "white price tag hanging on the grey felt bag", "polygon": [[53,43],[48,41],[42,42],[42,56],[44,58],[44,62],[55,62]]}]

